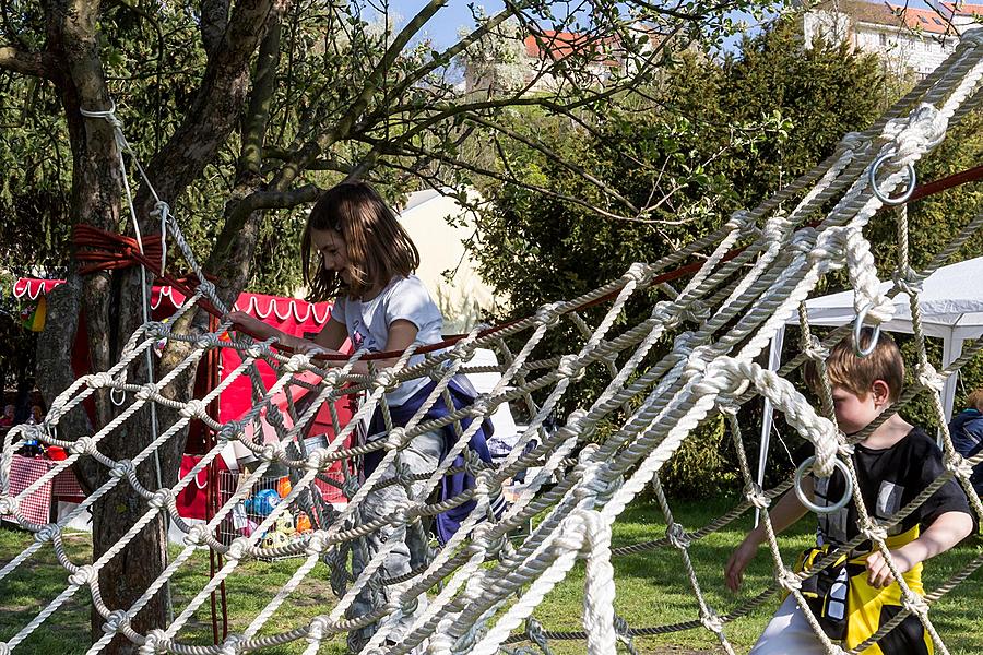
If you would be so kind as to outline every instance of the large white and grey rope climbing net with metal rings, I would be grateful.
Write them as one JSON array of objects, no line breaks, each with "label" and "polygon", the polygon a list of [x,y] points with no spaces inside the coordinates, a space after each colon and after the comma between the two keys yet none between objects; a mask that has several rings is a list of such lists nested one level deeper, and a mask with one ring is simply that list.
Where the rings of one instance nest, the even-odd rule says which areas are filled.
[{"label": "large white and grey rope climbing net with metal rings", "polygon": [[[737,408],[751,398],[767,397],[784,414],[787,422],[815,445],[814,472],[817,476],[830,476],[834,467],[840,467],[856,486],[856,472],[850,457],[855,439],[848,440],[831,420],[830,388],[821,365],[825,349],[853,327],[836,330],[820,342],[810,333],[802,309],[805,299],[830,272],[845,267],[855,290],[858,323],[879,325],[895,311],[892,295],[900,291],[910,295],[917,347],[916,384],[908,389],[892,410],[917,394],[927,394],[933,400],[938,425],[945,426],[940,381],[979,353],[981,344],[968,345],[959,359],[945,370],[936,371],[929,362],[921,329],[920,284],[979,231],[983,226],[983,214],[972,219],[926,270],[914,271],[908,260],[907,218],[903,207],[899,209],[900,247],[895,290],[887,294],[881,291],[863,229],[884,204],[897,202],[889,194],[905,183],[913,188],[914,164],[941,142],[947,127],[958,122],[983,100],[981,79],[983,31],[975,31],[963,37],[945,64],[899,100],[869,130],[846,135],[834,153],[814,170],[753,211],[733,215],[714,234],[659,262],[635,264],[619,279],[580,298],[544,306],[535,315],[505,326],[475,329],[466,336],[445,344],[441,349],[427,350],[422,362],[413,358],[422,349],[411,346],[394,366],[371,374],[354,372],[357,361],[371,359],[369,354],[360,350],[343,361],[325,362],[323,358],[309,355],[285,354],[272,342],[256,343],[245,337],[225,341],[221,335],[230,327],[227,320],[204,335],[187,336],[173,332],[170,326],[178,322],[177,319],[197,305],[209,303],[220,312],[226,312],[227,308],[217,297],[214,285],[194,263],[193,253],[181,237],[169,207],[158,200],[157,214],[165,235],[169,231],[198,275],[193,295],[178,309],[175,320],[167,323],[147,320],[131,336],[120,361],[110,370],[85,376],[61,393],[43,424],[17,426],[5,438],[0,461],[0,514],[14,516],[21,526],[34,533],[35,539],[0,569],[0,581],[9,580],[19,568],[28,565],[43,549],[54,549],[68,579],[56,597],[44,604],[16,634],[0,644],[0,653],[14,651],[83,587],[90,592],[92,604],[104,620],[105,634],[93,644],[90,653],[99,652],[117,635],[123,635],[146,654],[232,655],[299,641],[306,643],[304,652],[312,655],[332,635],[370,623],[378,623],[378,630],[365,646],[363,652],[366,653],[403,654],[415,648],[426,648],[434,654],[531,652],[514,645],[521,641],[531,641],[540,651],[547,652],[549,639],[583,639],[590,653],[614,653],[619,643],[633,651],[633,636],[698,628],[711,631],[724,651],[733,653],[726,636],[730,622],[783,590],[806,608],[801,592],[803,581],[864,540],[869,540],[884,553],[895,577],[900,580],[903,609],[852,652],[863,651],[905,617],[915,615],[937,652],[947,653],[928,609],[983,564],[983,556],[976,556],[945,584],[920,596],[898,574],[886,538],[891,526],[954,478],[966,490],[976,515],[983,517],[983,504],[969,484],[971,467],[983,461],[983,454],[963,460],[954,451],[948,438],[943,440],[944,475],[889,521],[875,521],[858,497],[851,499],[860,516],[860,536],[843,548],[830,551],[808,572],[793,572],[783,560],[767,513],[762,514],[768,549],[774,561],[774,583],[729,614],[718,614],[707,602],[701,586],[704,583],[698,580],[690,547],[749,509],[766,509],[772,499],[794,484],[790,479],[769,490],[755,484],[736,418]],[[120,151],[129,150],[122,126],[111,111],[91,112],[90,116],[114,122]],[[793,209],[789,210],[790,206]],[[703,252],[710,254],[698,265],[678,267]],[[653,302],[653,298],[658,300]],[[648,318],[625,326],[619,319],[629,303],[648,303],[647,307],[651,307]],[[786,317],[796,311],[802,317],[801,353],[779,371],[756,364]],[[556,330],[570,330],[582,338],[577,343],[568,340],[569,347],[560,356],[543,355],[550,331]],[[191,354],[157,381],[131,382],[128,371],[135,368],[138,358],[147,357],[155,344],[164,338],[191,343]],[[665,348],[666,344],[671,347]],[[205,353],[216,348],[238,350],[242,362],[208,395],[179,402],[163,393]],[[471,365],[478,348],[493,349],[501,366]],[[666,354],[656,358],[654,354],[662,349]],[[818,364],[824,380],[824,393],[820,394],[825,398],[824,412],[815,410],[787,379],[810,359]],[[257,372],[259,361],[276,372],[275,383],[271,386],[264,385]],[[606,386],[593,396],[578,397],[579,408],[560,421],[561,427],[547,430],[546,421],[557,407],[568,404],[566,396],[588,369],[606,371],[609,377]],[[448,407],[453,406],[449,384],[454,376],[488,371],[500,373],[500,380],[490,392],[448,416],[426,418],[427,409],[441,398]],[[208,405],[242,376],[249,377],[253,384],[254,405],[237,420],[218,422],[208,413]],[[428,378],[436,385],[424,406],[405,426],[393,426],[389,420],[387,391],[418,378]],[[285,410],[280,409],[276,397],[284,392],[291,397],[292,388],[303,388],[315,401],[303,409],[292,404]],[[117,397],[126,396],[128,403],[114,420],[91,436],[58,432],[61,417],[97,390],[106,389]],[[337,416],[332,415],[333,437],[322,446],[305,448],[305,429],[320,407],[333,406],[341,397],[355,393],[362,394],[362,401],[352,420],[342,425]],[[469,418],[490,416],[504,403],[523,406],[531,419],[511,453],[489,465],[472,456],[467,449],[481,420],[472,420],[467,427],[464,422]],[[99,450],[107,434],[120,429],[137,413],[153,406],[176,410],[178,419],[164,426],[138,455],[117,460],[111,453]],[[346,445],[351,443],[350,437],[356,426],[371,417],[377,408],[381,408],[381,415],[387,419],[386,437],[362,445]],[[710,524],[687,532],[674,519],[660,485],[660,468],[701,422],[716,415],[723,415],[730,426],[745,480],[746,500]],[[247,433],[256,433],[247,428],[261,419],[274,428],[276,441],[262,442],[247,437]],[[177,484],[162,485],[157,489],[141,485],[135,475],[137,467],[152,462],[158,449],[182,436],[192,420],[202,421],[217,434],[214,448]],[[448,425],[455,428],[457,440],[436,469],[407,475],[401,463],[414,438]],[[35,439],[64,448],[68,457],[13,495],[10,485],[13,455],[20,445]],[[214,517],[205,524],[189,525],[178,514],[175,499],[230,442],[250,451],[257,465],[244,476],[235,492],[223,499]],[[344,467],[344,480],[337,483],[347,496],[344,508],[319,509],[319,495],[311,491],[316,481],[324,477],[324,472],[337,462],[348,462],[369,453],[380,455],[382,463],[364,479],[352,474],[353,467]],[[440,502],[407,500],[384,516],[363,520],[360,508],[374,490],[393,484],[422,484],[426,498],[445,476],[457,469],[454,462],[459,455],[464,457],[464,468],[474,476],[472,488]],[[28,521],[20,503],[82,458],[91,458],[109,472],[105,484],[93,489],[84,502],[57,523],[38,525]],[[494,512],[493,505],[501,495],[502,485],[531,466],[536,468],[531,469],[513,502],[500,515]],[[291,472],[291,490],[262,523],[249,536],[239,536],[230,543],[218,539],[216,531],[223,521],[227,521],[237,505],[251,496],[265,475],[284,467]],[[393,476],[393,471],[399,472],[398,475]],[[106,552],[90,561],[73,561],[64,545],[64,526],[96,507],[120,485],[130,485],[147,502],[146,512]],[[665,515],[668,526],[665,537],[613,548],[613,523],[649,485],[654,487]],[[411,573],[380,581],[378,572],[382,562],[401,543],[402,535],[421,529],[423,522],[467,501],[474,501],[473,510],[442,547],[431,550],[426,561]],[[272,531],[282,515],[297,508],[305,508],[319,517],[315,521],[317,529],[286,545],[264,546],[262,535]],[[187,532],[185,547],[135,603],[129,607],[107,606],[100,593],[100,569],[141,531],[165,514],[169,522]],[[534,517],[535,527],[517,540],[514,533],[526,527]],[[363,567],[353,568],[351,556],[359,549],[360,540],[382,526],[394,529],[392,534],[396,538],[388,539]],[[631,628],[615,612],[617,581],[613,558],[663,547],[678,550],[699,614],[682,623]],[[131,621],[141,608],[161,593],[182,567],[190,565],[198,553],[208,549],[224,558],[224,564],[212,579],[183,606],[175,607],[173,621],[165,628],[147,633],[134,630]],[[223,643],[215,645],[192,645],[182,641],[182,630],[196,612],[223,582],[237,574],[244,562],[285,556],[296,556],[289,560],[296,562],[296,568],[245,630],[229,634]],[[585,560],[583,632],[547,632],[533,612],[579,560]],[[330,571],[336,599],[329,602],[325,598],[324,614],[300,624],[284,627],[283,615],[276,614],[277,610],[288,605],[292,597],[304,593],[303,585],[321,562]],[[384,605],[362,616],[350,616],[356,596],[367,585],[379,584],[388,585]],[[425,608],[421,610],[422,607]],[[277,618],[272,621],[275,614]],[[412,626],[392,643],[389,638],[396,626],[411,615]],[[806,609],[805,616],[830,653],[842,652],[825,636],[813,612]]]}]

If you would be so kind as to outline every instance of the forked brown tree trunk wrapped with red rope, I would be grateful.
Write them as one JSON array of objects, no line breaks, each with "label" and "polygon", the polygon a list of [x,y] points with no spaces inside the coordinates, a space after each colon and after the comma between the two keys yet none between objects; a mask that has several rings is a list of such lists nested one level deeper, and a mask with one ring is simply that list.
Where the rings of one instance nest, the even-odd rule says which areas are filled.
[{"label": "forked brown tree trunk wrapped with red rope", "polygon": [[[227,3],[212,3],[224,4]],[[162,198],[175,201],[215,154],[234,130],[249,90],[249,61],[267,26],[279,20],[286,3],[271,0],[242,0],[235,4],[222,37],[209,50],[209,66],[194,103],[186,120],[168,144],[154,157],[149,167]],[[57,62],[51,74],[64,108],[72,146],[71,215],[81,223],[108,231],[132,234],[123,221],[129,212],[121,207],[123,198],[119,153],[112,127],[102,118],[83,118],[81,109],[104,110],[111,106],[99,59],[99,0],[52,0],[46,7],[48,39],[47,53]],[[152,234],[149,210],[151,194],[146,188],[138,193],[138,216],[144,222],[142,234]],[[234,201],[233,201],[234,204]],[[224,273],[233,275],[220,286],[220,294],[234,299],[242,288],[256,245],[258,215],[235,235],[233,243],[225,243],[227,253],[222,264]],[[218,272],[218,271],[216,271]],[[153,275],[141,276],[138,269],[96,273],[80,277],[78,264],[72,263],[64,285],[51,295],[51,313],[38,345],[39,384],[49,400],[73,380],[71,365],[80,317],[84,315],[90,348],[91,370],[106,371],[120,358],[127,340],[144,320],[143,295],[150,293]],[[206,325],[203,312],[192,312],[180,325],[186,332],[198,332]],[[176,326],[177,327],[177,326]],[[175,343],[161,362],[165,370],[187,354],[187,346]],[[152,358],[153,359],[153,358]],[[128,382],[144,384],[156,365],[147,364],[141,354],[128,368]],[[154,376],[159,380],[161,374]],[[162,393],[186,401],[193,389],[193,367]],[[79,409],[62,417],[59,434],[63,439],[99,433],[134,398],[131,394],[122,407],[116,407],[110,394],[99,390],[95,397],[95,426]],[[174,412],[157,406],[158,430],[162,432],[177,420]],[[98,451],[114,461],[132,460],[153,439],[153,421],[147,406],[107,434],[100,434]],[[142,487],[156,490],[174,485],[185,446],[185,432],[176,434],[137,468]],[[88,490],[97,489],[110,479],[110,471],[92,457],[83,457],[78,466],[80,481]],[[147,502],[122,479],[93,507],[93,553],[97,560],[120,547],[126,533],[143,516]],[[126,544],[120,552],[99,568],[98,585],[103,607],[93,608],[93,640],[103,636],[105,616],[129,609],[163,572],[167,561],[164,515]],[[164,586],[135,617],[131,627],[140,633],[166,626],[169,598]],[[102,609],[102,612],[98,611]],[[135,653],[137,647],[126,638],[117,636],[107,653]]]}]

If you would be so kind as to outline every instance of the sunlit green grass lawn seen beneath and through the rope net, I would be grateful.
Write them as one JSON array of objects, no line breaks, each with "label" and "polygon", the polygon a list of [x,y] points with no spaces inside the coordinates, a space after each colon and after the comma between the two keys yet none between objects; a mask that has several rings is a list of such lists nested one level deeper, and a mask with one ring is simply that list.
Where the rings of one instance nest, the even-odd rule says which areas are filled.
[{"label": "sunlit green grass lawn seen beneath and through the rope net", "polygon": [[[699,503],[674,503],[676,520],[688,529],[707,524],[722,514],[733,503],[731,501],[704,501]],[[744,537],[750,525],[750,515],[727,528],[694,543],[690,553],[704,597],[719,614],[727,614],[743,605],[771,581],[772,564],[762,550],[747,571],[745,590],[735,595],[727,592],[722,583],[721,572],[731,551]],[[805,548],[812,540],[808,521],[802,521],[800,529],[790,532],[782,538],[786,560]],[[614,546],[626,546],[663,536],[664,522],[654,505],[637,504],[629,508],[614,528]],[[22,548],[31,543],[27,533],[11,528],[0,528],[0,561],[10,561]],[[73,561],[90,559],[88,535],[74,533],[67,543]],[[932,590],[955,573],[980,551],[979,540],[966,544],[945,553],[927,567],[926,586]],[[175,551],[176,552],[176,551]],[[248,562],[241,564],[227,583],[229,598],[230,630],[241,632],[259,614],[273,594],[287,581],[301,560],[273,563]],[[26,624],[67,582],[67,573],[55,561],[50,548],[35,555],[26,568],[0,582],[0,640],[8,640]],[[649,551],[616,558],[614,562],[617,584],[616,611],[632,628],[661,626],[698,618],[696,597],[689,587],[682,558],[672,549]],[[175,579],[174,597],[178,611],[202,588],[208,580],[208,556],[202,552],[182,568]],[[983,634],[979,629],[983,608],[983,585],[981,573],[974,573],[956,591],[943,598],[933,608],[933,621],[938,628],[950,652],[969,655],[983,653]],[[535,617],[547,630],[580,630],[581,603],[583,595],[583,567],[577,567],[564,583],[550,593],[537,608]],[[267,623],[264,633],[296,628],[310,617],[327,611],[333,603],[327,583],[327,569],[319,564],[307,581],[291,596],[276,615]],[[778,597],[765,607],[751,612],[726,628],[731,643],[738,652],[746,651],[757,639],[765,622],[778,605]],[[26,642],[19,645],[16,653],[74,654],[84,653],[87,647],[88,594],[82,590]],[[181,631],[181,640],[188,643],[211,643],[211,622],[205,604],[191,622]],[[279,648],[263,651],[270,654],[300,653],[305,643],[295,643]],[[678,632],[660,638],[636,640],[639,652],[648,654],[691,654],[723,652],[715,638],[703,629]],[[584,652],[583,642],[552,641],[550,647],[558,655]],[[322,653],[343,653],[344,640],[336,638],[327,643]]]}]

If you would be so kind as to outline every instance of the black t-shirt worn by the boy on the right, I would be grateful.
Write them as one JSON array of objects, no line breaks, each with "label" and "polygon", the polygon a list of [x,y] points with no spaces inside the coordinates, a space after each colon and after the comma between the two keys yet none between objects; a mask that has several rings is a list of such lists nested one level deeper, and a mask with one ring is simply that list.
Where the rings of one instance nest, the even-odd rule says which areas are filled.
[{"label": "black t-shirt worn by the boy on the right", "polygon": [[[812,443],[798,449],[796,462],[804,461],[813,450]],[[855,444],[853,464],[864,507],[872,517],[880,521],[890,520],[945,473],[941,451],[935,440],[921,428],[913,428],[890,448],[878,450]],[[816,478],[815,502],[819,505],[834,504],[843,497],[844,489],[845,480],[839,469],[829,478]],[[973,516],[966,493],[955,478],[946,480],[921,507],[889,528],[888,534],[899,535],[915,525],[921,525],[924,531],[946,512],[966,512]],[[852,500],[836,512],[819,514],[818,519],[820,545],[845,544],[860,534],[857,512]],[[866,543],[861,544],[855,552],[868,550],[869,543]]]}]

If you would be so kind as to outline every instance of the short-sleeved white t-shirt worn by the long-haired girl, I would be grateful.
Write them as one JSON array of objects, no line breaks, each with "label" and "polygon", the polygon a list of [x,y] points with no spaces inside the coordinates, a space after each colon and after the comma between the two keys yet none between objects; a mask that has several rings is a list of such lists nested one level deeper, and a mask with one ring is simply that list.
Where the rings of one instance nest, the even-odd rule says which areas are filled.
[{"label": "short-sleeved white t-shirt worn by the long-haired girl", "polygon": [[[339,298],[331,309],[331,319],[342,323],[356,350],[365,348],[381,353],[389,341],[389,326],[400,319],[416,325],[416,342],[428,345],[443,341],[443,315],[416,275],[396,276],[370,300]],[[423,361],[425,355],[414,355],[407,366]],[[407,380],[395,391],[386,394],[390,405],[402,405],[406,398],[428,382],[427,377]]]}]

